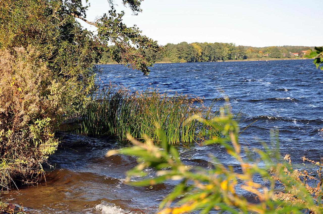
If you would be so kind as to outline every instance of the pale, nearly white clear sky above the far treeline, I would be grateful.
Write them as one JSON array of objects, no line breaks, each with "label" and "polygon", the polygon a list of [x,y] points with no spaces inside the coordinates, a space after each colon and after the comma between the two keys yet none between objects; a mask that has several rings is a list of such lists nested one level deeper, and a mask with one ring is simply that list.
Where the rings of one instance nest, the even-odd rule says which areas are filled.
[{"label": "pale, nearly white clear sky above the far treeline", "polygon": [[[137,24],[159,44],[232,42],[256,47],[323,45],[323,0],[144,0],[142,13],[125,10],[124,23]],[[107,0],[90,0],[88,19],[109,10]],[[316,26],[318,24],[318,26]]]}]

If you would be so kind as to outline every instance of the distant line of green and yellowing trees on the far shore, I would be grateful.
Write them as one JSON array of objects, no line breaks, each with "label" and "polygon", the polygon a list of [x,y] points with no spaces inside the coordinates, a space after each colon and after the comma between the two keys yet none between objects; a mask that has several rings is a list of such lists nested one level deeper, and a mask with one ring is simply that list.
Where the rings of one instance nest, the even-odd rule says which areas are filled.
[{"label": "distant line of green and yellowing trees on the far shore", "polygon": [[[191,43],[165,45],[165,53],[146,52],[147,56],[156,57],[156,62],[191,63],[217,62],[226,60],[260,58],[301,58],[309,54],[314,47],[307,46],[271,46],[251,47],[236,46],[233,43]],[[102,64],[113,63],[109,53],[103,53]]]}]

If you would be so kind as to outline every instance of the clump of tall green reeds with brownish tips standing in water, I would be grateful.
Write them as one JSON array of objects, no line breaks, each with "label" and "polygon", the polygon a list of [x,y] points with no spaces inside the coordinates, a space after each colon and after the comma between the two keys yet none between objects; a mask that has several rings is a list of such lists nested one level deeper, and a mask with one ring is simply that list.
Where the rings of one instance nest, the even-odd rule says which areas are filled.
[{"label": "clump of tall green reeds with brownish tips standing in water", "polygon": [[205,107],[202,99],[191,95],[159,92],[156,88],[134,91],[109,85],[98,90],[93,100],[83,106],[78,115],[78,134],[113,136],[119,141],[127,139],[127,133],[135,139],[148,137],[160,141],[160,127],[170,144],[201,142],[211,133],[205,124],[190,120],[201,115],[206,120],[218,116],[211,107]]}]

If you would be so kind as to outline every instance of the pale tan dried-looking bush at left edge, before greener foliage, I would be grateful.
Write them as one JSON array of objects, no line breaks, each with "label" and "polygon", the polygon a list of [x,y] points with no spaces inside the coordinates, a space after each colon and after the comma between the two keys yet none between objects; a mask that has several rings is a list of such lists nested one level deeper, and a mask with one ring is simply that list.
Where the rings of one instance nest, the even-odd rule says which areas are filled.
[{"label": "pale tan dried-looking bush at left edge, before greener foliage", "polygon": [[[54,130],[66,87],[52,79],[35,49],[0,51],[0,185],[37,177],[57,147]],[[29,182],[29,180],[22,180]]]}]

